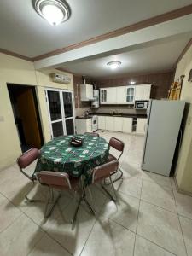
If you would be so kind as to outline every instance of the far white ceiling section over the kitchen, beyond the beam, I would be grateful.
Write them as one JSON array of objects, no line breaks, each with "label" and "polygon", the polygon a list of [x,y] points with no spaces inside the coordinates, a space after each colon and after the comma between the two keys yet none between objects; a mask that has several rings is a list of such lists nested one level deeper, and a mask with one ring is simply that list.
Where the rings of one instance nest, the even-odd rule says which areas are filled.
[{"label": "far white ceiling section over the kitchen, beyond the beam", "polygon": [[[172,69],[191,37],[192,32],[180,34],[177,37],[143,44],[140,49],[129,52],[96,58],[90,61],[73,61],[65,64],[62,68],[72,73],[91,77],[165,71]],[[111,70],[106,65],[108,61],[121,61],[122,64],[118,69]]]}]

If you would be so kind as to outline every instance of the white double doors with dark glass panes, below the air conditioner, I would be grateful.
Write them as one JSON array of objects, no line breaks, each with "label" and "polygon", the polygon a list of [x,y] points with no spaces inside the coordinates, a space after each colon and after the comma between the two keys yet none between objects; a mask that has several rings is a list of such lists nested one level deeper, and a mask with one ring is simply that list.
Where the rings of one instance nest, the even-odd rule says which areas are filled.
[{"label": "white double doors with dark glass panes, below the air conditioner", "polygon": [[74,134],[73,91],[46,90],[51,137]]}]

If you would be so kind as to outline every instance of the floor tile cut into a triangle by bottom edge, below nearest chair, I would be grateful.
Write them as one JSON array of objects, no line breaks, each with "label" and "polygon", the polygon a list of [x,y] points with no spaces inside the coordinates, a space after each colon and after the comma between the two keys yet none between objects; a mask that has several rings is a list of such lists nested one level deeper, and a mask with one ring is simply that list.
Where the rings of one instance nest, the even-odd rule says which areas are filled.
[{"label": "floor tile cut into a triangle by bottom edge, below nearest chair", "polygon": [[50,238],[47,235],[38,241],[37,245],[33,248],[32,252],[28,256],[70,256],[61,245]]}]

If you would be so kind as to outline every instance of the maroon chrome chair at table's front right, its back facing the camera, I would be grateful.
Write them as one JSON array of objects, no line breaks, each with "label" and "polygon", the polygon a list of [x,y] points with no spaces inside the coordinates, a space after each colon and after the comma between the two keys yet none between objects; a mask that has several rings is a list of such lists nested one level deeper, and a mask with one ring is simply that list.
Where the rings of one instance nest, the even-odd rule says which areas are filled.
[{"label": "maroon chrome chair at table's front right, its back facing the camera", "polygon": [[[111,173],[113,172],[117,172],[119,167],[119,161],[118,160],[112,160],[106,164],[103,164],[102,166],[97,166],[96,168],[93,169],[93,173],[92,173],[92,183],[101,183],[102,185],[102,189],[109,195],[109,197],[113,200],[113,201],[117,201],[117,195],[113,186],[113,182],[111,179]],[[102,184],[102,181],[104,181],[106,178],[110,179],[110,184],[112,186],[113,189],[113,193],[115,195],[115,198],[113,197],[113,195],[111,195],[107,189],[105,189],[105,187]]]}]

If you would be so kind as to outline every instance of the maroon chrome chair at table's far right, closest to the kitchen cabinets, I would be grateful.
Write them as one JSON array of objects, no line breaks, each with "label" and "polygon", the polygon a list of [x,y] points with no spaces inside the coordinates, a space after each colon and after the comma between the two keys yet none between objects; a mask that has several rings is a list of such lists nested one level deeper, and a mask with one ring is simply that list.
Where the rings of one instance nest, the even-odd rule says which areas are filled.
[{"label": "maroon chrome chair at table's far right, closest to the kitchen cabinets", "polygon": [[[119,161],[121,155],[124,153],[124,148],[125,148],[124,142],[122,142],[121,140],[119,140],[116,137],[112,137],[109,141],[109,146],[118,150],[120,152],[120,154],[119,154],[118,158],[113,156],[113,154],[109,154],[108,155],[108,162],[113,161],[113,160],[118,160]],[[123,171],[121,170],[120,167],[115,172],[111,172],[111,176],[114,175],[115,173],[117,173],[118,171],[120,172],[120,175],[119,175],[119,177],[117,177],[113,180],[113,183],[118,181],[119,179],[121,179],[123,177]],[[108,184],[108,183],[106,183],[106,184]]]}]

